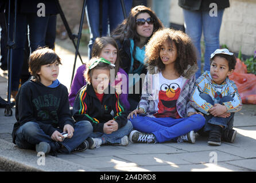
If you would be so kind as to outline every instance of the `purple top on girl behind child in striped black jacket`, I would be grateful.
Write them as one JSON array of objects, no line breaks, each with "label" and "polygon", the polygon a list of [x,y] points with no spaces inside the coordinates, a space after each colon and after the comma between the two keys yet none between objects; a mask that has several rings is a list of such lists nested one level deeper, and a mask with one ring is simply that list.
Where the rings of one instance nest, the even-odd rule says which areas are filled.
[{"label": "purple top on girl behind child in striped black jacket", "polygon": [[[68,95],[69,105],[71,106],[73,106],[73,102],[75,101],[77,92],[80,90],[81,87],[86,85],[86,79],[84,78],[85,70],[86,70],[86,65],[82,65],[78,67],[78,69],[76,70],[76,74],[75,74],[75,77],[73,78],[71,89]],[[124,91],[125,87],[122,87],[122,94],[119,96],[119,99],[122,102],[122,104],[125,106],[125,109],[129,110],[130,104],[128,102],[128,90],[129,90],[128,75],[121,68],[119,68],[118,72],[121,74],[124,74],[126,77],[126,78],[124,77],[122,78],[123,79],[122,85],[124,85],[126,82],[126,91]]]}]

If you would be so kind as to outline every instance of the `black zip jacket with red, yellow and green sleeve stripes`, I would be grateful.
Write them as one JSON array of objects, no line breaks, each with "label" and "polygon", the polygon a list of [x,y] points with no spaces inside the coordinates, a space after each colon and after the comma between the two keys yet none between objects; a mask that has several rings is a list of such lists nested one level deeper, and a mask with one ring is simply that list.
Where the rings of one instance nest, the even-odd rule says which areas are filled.
[{"label": "black zip jacket with red, yellow and green sleeve stripes", "polygon": [[108,87],[108,94],[104,93],[101,103],[91,84],[83,86],[77,93],[73,104],[73,118],[76,122],[90,121],[94,132],[102,133],[104,123],[110,120],[118,123],[118,129],[127,123],[127,114],[119,101],[119,95],[111,94]]}]

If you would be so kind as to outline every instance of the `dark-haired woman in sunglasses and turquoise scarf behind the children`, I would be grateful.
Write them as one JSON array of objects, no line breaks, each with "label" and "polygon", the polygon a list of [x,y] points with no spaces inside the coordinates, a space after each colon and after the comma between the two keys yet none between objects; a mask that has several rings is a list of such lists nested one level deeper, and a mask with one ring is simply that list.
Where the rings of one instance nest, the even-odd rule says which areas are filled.
[{"label": "dark-haired woman in sunglasses and turquoise scarf behind the children", "polygon": [[[149,7],[139,5],[131,9],[129,17],[111,34],[118,43],[121,68],[127,74],[134,75],[134,79],[129,80],[129,88],[133,87],[133,93],[129,92],[128,97],[131,111],[137,107],[140,100],[143,82],[139,75],[146,74],[144,66],[145,45],[153,33],[162,27],[162,22],[157,18],[154,11]],[[135,89],[135,86],[138,86],[135,85],[137,82],[139,82],[139,90]]]}]

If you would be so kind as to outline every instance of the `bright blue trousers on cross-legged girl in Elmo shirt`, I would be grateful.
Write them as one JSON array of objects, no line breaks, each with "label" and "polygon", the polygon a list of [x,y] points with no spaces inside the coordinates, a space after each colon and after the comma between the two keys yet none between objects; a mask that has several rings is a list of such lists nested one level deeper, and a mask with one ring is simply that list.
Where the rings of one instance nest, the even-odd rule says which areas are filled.
[{"label": "bright blue trousers on cross-legged girl in Elmo shirt", "polygon": [[157,142],[176,140],[177,137],[194,130],[197,132],[205,124],[205,118],[201,114],[194,114],[187,118],[152,118],[148,116],[133,116],[130,119],[135,130],[145,133],[153,133]]}]

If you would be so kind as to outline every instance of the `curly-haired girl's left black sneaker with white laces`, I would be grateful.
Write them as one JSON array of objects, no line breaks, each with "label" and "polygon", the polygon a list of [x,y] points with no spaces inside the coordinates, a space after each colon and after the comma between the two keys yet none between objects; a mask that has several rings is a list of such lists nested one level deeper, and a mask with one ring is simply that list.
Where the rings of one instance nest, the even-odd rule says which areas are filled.
[{"label": "curly-haired girl's left black sneaker with white laces", "polygon": [[130,133],[129,140],[134,143],[148,143],[156,144],[156,136],[153,133],[142,133],[137,130],[133,130]]}]

